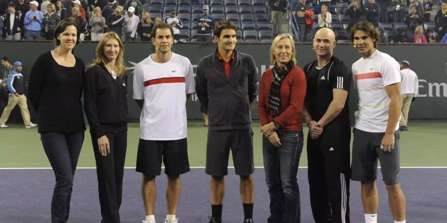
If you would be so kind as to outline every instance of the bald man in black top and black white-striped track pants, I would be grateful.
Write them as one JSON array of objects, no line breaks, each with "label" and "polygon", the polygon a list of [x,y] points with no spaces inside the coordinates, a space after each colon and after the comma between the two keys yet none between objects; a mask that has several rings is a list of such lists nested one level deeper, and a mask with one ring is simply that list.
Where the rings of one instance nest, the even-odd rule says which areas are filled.
[{"label": "bald man in black top and black white-striped track pants", "polygon": [[315,34],[317,60],[304,66],[307,92],[303,116],[307,137],[310,205],[316,223],[349,223],[351,125],[348,94],[351,75],[332,55],[335,33],[322,28]]}]

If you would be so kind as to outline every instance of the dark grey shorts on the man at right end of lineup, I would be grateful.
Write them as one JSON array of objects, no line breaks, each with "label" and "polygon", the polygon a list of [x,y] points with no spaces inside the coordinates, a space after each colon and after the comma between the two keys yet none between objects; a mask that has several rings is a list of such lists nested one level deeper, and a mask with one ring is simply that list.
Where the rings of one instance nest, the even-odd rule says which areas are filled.
[{"label": "dark grey shorts on the man at right end of lineup", "polygon": [[377,159],[383,181],[387,185],[399,183],[399,131],[394,132],[394,149],[383,152],[380,149],[384,132],[365,132],[354,129],[352,148],[351,179],[368,182],[377,178]]}]

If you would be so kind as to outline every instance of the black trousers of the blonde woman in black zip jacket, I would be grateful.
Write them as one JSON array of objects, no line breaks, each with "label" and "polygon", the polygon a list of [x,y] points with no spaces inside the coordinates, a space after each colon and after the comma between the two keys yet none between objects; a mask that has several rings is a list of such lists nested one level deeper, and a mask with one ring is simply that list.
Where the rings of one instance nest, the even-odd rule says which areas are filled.
[{"label": "black trousers of the blonde woman in black zip jacket", "polygon": [[120,206],[123,194],[124,161],[127,150],[127,131],[106,133],[110,154],[101,156],[98,140],[92,136],[93,153],[98,176],[99,204],[102,223],[120,223]]}]

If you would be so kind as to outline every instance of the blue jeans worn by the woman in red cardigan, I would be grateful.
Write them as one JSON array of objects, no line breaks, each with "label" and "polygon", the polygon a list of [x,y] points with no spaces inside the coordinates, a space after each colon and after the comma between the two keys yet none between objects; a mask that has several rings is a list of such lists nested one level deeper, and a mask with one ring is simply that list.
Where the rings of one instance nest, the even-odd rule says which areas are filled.
[{"label": "blue jeans worn by the woman in red cardigan", "polygon": [[265,181],[270,195],[268,223],[299,223],[298,163],[303,146],[302,131],[281,131],[281,146],[262,137]]}]

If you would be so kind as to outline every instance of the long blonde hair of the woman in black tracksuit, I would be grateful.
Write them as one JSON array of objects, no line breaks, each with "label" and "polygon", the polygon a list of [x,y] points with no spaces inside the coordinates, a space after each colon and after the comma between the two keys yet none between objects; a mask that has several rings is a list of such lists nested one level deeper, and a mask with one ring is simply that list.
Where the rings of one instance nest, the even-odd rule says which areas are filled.
[{"label": "long blonde hair of the woman in black tracksuit", "polygon": [[115,32],[107,32],[102,35],[101,39],[99,40],[98,46],[96,46],[96,59],[93,59],[91,64],[89,64],[89,67],[97,65],[101,66],[104,65],[106,62],[106,57],[103,53],[103,48],[107,41],[110,39],[115,39],[118,41],[118,45],[120,46],[120,53],[118,53],[118,56],[115,60],[115,68],[117,69],[117,76],[123,77],[126,73],[126,66],[124,65],[124,45],[121,41],[121,38],[116,34]]}]

